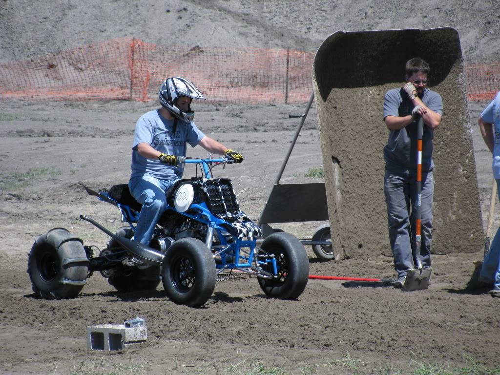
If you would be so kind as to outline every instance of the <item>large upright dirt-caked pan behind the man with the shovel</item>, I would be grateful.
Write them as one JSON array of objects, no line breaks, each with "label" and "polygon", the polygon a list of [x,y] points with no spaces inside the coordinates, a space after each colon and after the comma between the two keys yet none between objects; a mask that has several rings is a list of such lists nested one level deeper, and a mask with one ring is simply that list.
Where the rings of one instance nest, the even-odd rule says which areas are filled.
[{"label": "large upright dirt-caked pan behind the man with the shovel", "polygon": [[[383,97],[404,84],[412,57],[430,64],[443,99],[434,131],[433,253],[483,247],[482,218],[458,32],[451,27],[337,31],[316,52],[317,105],[335,258],[391,255],[383,194]],[[475,121],[475,119],[473,119]]]}]

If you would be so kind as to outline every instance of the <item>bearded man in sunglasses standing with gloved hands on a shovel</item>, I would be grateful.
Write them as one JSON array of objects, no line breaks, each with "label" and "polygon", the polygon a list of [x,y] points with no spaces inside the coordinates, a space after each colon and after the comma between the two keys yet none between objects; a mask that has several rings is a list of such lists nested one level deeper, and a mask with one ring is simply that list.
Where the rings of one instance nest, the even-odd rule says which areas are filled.
[{"label": "bearded man in sunglasses standing with gloved hands on a shovel", "polygon": [[416,197],[416,120],[422,116],[422,191],[421,246],[422,266],[430,267],[432,239],[432,139],[441,122],[442,99],[428,85],[429,65],[420,57],[406,62],[406,84],[385,93],[383,120],[389,129],[383,148],[385,176],[383,191],[387,204],[389,241],[397,272],[395,287],[402,287],[408,269],[413,268],[412,246],[415,245]]}]

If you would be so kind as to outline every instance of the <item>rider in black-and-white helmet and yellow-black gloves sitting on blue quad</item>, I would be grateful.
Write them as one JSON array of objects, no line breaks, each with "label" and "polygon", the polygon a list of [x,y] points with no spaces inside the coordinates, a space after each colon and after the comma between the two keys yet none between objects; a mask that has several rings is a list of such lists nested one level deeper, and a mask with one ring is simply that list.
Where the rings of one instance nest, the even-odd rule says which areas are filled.
[{"label": "rider in black-and-white helmet and yellow-black gloves sitting on blue quad", "polygon": [[193,122],[192,99],[204,99],[197,87],[180,77],[167,78],[158,92],[161,108],[143,114],[135,124],[132,174],[128,187],[142,204],[133,239],[149,244],[156,222],[166,208],[165,191],[182,176],[186,143],[199,144],[208,152],[243,161],[239,152],[206,136]]}]

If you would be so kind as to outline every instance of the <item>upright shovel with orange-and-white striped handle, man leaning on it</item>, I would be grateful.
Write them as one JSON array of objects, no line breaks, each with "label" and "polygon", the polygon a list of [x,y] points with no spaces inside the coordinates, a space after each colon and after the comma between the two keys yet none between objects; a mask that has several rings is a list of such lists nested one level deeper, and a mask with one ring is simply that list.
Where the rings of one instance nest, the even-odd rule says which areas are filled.
[{"label": "upright shovel with orange-and-white striped handle, man leaning on it", "polygon": [[402,287],[403,291],[427,289],[429,286],[430,272],[432,268],[423,268],[420,259],[420,229],[421,229],[421,206],[422,206],[422,135],[423,118],[420,116],[416,124],[416,225],[415,243],[412,246],[413,264],[415,268],[408,269],[406,280]]}]

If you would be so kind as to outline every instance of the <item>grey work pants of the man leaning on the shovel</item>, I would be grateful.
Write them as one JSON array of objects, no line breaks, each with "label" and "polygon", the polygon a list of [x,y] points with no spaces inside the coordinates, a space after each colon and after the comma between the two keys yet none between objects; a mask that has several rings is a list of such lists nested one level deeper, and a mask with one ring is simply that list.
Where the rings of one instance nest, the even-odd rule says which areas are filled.
[{"label": "grey work pants of the man leaning on the shovel", "polygon": [[[416,171],[385,169],[383,192],[387,204],[389,242],[394,257],[397,276],[405,276],[414,268],[412,246],[415,245]],[[432,240],[432,196],[434,178],[432,171],[422,172],[421,242],[420,259],[423,267],[430,267],[430,242]]]}]

